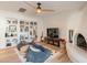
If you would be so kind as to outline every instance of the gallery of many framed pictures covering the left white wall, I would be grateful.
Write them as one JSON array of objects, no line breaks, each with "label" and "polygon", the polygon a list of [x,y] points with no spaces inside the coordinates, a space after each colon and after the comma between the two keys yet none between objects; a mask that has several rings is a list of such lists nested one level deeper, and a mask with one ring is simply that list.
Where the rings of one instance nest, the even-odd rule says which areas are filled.
[{"label": "gallery of many framed pictures covering the left white wall", "polygon": [[7,46],[17,45],[21,41],[29,42],[37,37],[37,23],[24,20],[9,19],[6,28]]}]

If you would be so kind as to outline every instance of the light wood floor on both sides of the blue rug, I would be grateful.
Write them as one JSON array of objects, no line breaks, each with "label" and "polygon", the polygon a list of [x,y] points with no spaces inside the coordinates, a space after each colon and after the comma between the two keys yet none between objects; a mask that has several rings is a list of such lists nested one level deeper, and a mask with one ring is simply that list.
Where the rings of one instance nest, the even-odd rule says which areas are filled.
[{"label": "light wood floor on both sides of the blue rug", "polygon": [[[41,44],[52,50],[52,52],[54,52],[55,55],[46,63],[72,63],[72,61],[67,56],[66,50],[62,50],[57,46],[53,46],[46,43],[41,43]],[[14,48],[17,47],[0,50],[0,63],[22,63],[21,58],[19,57]],[[25,47],[23,47],[23,50],[24,48]],[[24,53],[24,51],[21,53]],[[24,54],[21,54],[20,56],[24,57]]]}]

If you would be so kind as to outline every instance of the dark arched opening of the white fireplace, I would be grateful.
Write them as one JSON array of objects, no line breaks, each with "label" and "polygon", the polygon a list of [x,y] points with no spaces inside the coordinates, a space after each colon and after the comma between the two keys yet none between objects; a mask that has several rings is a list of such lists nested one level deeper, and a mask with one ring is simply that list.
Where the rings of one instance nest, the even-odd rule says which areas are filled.
[{"label": "dark arched opening of the white fireplace", "polygon": [[87,50],[86,40],[80,33],[77,35],[77,46],[79,46],[80,48]]}]

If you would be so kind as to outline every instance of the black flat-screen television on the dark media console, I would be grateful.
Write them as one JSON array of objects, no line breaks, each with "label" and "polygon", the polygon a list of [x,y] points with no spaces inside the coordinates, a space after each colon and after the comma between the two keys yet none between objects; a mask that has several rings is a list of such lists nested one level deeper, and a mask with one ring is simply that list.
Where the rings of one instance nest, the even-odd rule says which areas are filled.
[{"label": "black flat-screen television on the dark media console", "polygon": [[48,37],[58,37],[58,28],[50,28],[47,29]]}]

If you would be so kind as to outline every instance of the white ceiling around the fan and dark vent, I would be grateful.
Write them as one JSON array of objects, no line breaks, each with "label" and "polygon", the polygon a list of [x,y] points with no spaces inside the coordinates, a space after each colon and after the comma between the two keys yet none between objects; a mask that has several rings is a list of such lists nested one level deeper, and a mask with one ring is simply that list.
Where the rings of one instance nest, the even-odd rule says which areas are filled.
[{"label": "white ceiling around the fan and dark vent", "polygon": [[[26,3],[29,4],[26,4]],[[35,9],[37,1],[0,1],[0,10],[19,12],[19,8],[24,8],[25,14],[35,15]],[[80,9],[87,2],[83,1],[41,1],[43,9],[55,10],[52,13],[43,13],[42,15],[51,15],[65,11],[74,11]],[[32,7],[33,6],[33,7]]]}]

